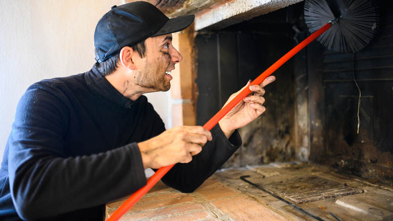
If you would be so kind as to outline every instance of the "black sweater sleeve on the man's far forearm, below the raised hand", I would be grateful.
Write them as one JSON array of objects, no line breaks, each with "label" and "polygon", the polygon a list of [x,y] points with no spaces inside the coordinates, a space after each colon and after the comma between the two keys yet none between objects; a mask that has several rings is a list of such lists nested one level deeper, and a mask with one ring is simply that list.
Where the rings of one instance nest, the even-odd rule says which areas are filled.
[{"label": "black sweater sleeve on the man's far forearm, below the raised hand", "polygon": [[227,139],[217,124],[211,130],[213,139],[189,163],[177,163],[162,178],[166,185],[181,192],[192,192],[212,176],[241,146],[237,130]]}]

